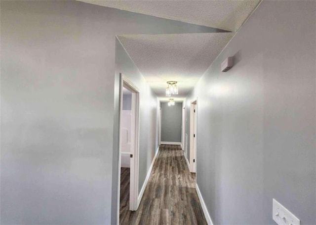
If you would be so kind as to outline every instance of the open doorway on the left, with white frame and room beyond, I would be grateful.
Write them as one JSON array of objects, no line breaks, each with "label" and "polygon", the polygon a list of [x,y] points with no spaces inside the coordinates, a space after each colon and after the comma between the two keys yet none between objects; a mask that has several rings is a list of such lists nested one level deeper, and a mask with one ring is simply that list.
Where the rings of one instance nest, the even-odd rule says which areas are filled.
[{"label": "open doorway on the left, with white frame and room beyond", "polygon": [[118,221],[123,224],[120,217],[138,207],[139,91],[122,74],[119,118]]}]

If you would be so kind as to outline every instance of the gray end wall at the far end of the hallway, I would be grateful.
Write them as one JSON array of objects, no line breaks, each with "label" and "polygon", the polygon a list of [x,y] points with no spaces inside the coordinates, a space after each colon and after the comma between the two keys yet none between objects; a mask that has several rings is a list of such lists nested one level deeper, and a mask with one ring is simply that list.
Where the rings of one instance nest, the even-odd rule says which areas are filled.
[{"label": "gray end wall at the far end of the hallway", "polygon": [[161,141],[181,142],[182,103],[161,102]]}]

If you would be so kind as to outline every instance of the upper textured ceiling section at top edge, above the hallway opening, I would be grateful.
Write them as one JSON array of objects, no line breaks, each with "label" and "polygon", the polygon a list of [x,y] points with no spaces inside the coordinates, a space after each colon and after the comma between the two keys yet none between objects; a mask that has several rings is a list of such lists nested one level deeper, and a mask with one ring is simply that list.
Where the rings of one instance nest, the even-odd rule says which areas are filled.
[{"label": "upper textured ceiling section at top edge, above the hallway opening", "polygon": [[260,0],[80,1],[234,32],[260,2]]}]

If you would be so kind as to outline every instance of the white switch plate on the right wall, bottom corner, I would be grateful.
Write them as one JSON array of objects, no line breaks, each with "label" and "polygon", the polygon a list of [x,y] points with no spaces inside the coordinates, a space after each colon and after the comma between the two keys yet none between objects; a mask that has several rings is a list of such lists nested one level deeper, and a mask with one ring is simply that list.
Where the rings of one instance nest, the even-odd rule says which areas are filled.
[{"label": "white switch plate on the right wall, bottom corner", "polygon": [[272,218],[278,225],[301,225],[301,221],[283,205],[273,199]]}]

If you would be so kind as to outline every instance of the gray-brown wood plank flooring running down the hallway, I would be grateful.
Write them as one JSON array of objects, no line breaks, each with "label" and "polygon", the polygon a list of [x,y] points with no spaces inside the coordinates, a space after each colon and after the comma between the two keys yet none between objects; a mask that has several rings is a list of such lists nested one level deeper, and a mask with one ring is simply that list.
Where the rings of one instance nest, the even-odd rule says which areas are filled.
[{"label": "gray-brown wood plank flooring running down the hallway", "polygon": [[[129,168],[121,168],[120,225],[207,225],[179,145],[161,145],[137,211],[129,211]],[[141,187],[140,187],[141,188]]]}]

